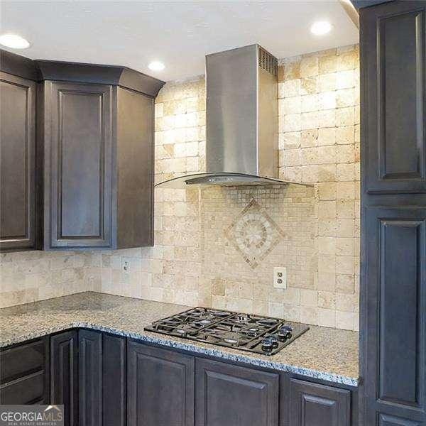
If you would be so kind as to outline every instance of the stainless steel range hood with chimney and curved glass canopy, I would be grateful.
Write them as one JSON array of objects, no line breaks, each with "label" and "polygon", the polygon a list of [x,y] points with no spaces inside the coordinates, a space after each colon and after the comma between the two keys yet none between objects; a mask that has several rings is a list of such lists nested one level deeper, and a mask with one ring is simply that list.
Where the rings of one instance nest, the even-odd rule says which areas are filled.
[{"label": "stainless steel range hood with chimney and curved glass canopy", "polygon": [[283,185],[278,179],[278,61],[259,45],[206,56],[206,173],[155,186]]}]

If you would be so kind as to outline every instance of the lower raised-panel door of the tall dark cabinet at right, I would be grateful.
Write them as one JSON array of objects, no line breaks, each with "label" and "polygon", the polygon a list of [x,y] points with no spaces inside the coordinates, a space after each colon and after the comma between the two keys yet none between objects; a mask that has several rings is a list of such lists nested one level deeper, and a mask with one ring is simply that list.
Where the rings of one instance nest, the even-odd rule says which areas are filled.
[{"label": "lower raised-panel door of the tall dark cabinet at right", "polygon": [[370,207],[366,232],[367,423],[426,425],[426,208]]}]

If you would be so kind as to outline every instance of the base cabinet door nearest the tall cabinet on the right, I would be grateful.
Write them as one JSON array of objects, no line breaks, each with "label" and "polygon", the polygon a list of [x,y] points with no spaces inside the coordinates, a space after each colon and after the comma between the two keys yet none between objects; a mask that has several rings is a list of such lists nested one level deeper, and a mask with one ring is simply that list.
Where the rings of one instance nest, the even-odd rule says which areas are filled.
[{"label": "base cabinet door nearest the tall cabinet on the right", "polygon": [[290,379],[291,426],[350,426],[351,392]]}]

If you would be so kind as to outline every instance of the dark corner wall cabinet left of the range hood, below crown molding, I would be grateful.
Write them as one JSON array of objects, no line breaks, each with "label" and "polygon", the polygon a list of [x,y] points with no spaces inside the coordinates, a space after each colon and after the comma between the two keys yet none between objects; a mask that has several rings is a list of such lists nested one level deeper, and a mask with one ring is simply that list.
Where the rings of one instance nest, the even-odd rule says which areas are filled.
[{"label": "dark corner wall cabinet left of the range hood, below crown molding", "polygon": [[153,98],[44,82],[45,249],[153,245]]}]

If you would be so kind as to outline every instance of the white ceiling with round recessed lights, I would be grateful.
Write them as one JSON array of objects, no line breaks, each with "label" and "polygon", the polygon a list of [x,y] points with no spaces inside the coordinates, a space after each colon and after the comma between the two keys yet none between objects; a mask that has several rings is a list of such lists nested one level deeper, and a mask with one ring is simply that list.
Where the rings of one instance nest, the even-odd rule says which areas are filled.
[{"label": "white ceiling with round recessed lights", "polygon": [[[161,80],[204,73],[204,55],[259,43],[277,58],[358,42],[334,1],[5,1],[0,32],[31,42],[12,52],[33,59],[126,65]],[[310,25],[334,28],[312,35]],[[165,70],[148,63],[160,60]]]}]

